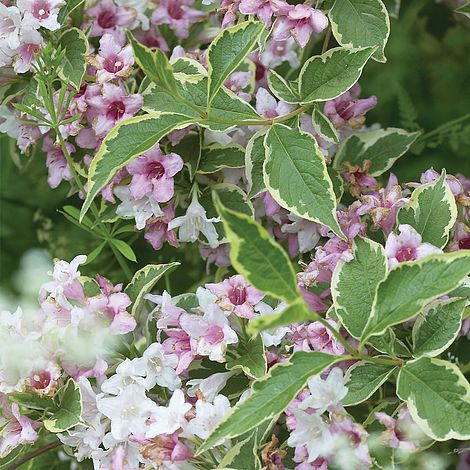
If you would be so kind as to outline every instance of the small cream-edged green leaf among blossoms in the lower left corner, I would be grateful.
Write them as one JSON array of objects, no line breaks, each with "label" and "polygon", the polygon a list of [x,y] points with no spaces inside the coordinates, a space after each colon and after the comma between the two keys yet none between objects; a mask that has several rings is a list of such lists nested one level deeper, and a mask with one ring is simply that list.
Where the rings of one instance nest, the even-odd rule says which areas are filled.
[{"label": "small cream-edged green leaf among blossoms in the lower left corner", "polygon": [[82,422],[82,394],[80,387],[69,379],[62,390],[58,409],[52,417],[44,420],[44,427],[49,432],[63,432]]}]

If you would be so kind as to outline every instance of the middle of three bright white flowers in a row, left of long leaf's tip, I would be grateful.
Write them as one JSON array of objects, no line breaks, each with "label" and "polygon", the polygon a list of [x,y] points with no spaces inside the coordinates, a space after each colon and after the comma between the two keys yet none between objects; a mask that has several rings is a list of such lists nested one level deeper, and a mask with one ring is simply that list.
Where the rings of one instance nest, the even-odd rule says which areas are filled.
[{"label": "middle of three bright white flowers in a row, left of long leaf's tip", "polygon": [[183,392],[180,389],[175,390],[168,406],[157,406],[152,413],[154,422],[148,427],[145,437],[172,434],[179,428],[184,429],[187,425],[185,415],[191,408],[191,404],[185,402]]}]

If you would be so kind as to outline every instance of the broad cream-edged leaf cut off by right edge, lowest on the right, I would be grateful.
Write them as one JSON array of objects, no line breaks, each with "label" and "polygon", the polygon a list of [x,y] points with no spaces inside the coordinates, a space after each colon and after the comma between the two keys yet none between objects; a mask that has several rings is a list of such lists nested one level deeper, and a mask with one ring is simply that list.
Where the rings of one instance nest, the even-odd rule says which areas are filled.
[{"label": "broad cream-edged leaf cut off by right edge, lowest on the right", "polygon": [[470,439],[470,385],[455,364],[428,357],[407,362],[397,394],[432,439]]}]

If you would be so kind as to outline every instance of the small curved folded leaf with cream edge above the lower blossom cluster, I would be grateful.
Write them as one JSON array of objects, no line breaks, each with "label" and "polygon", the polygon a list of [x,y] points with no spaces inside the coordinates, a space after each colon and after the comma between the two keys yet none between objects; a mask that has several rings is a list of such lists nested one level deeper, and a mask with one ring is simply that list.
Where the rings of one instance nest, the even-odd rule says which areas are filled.
[{"label": "small curved folded leaf with cream edge above the lower blossom cluster", "polygon": [[132,315],[136,315],[139,312],[145,302],[144,296],[153,289],[161,277],[164,274],[169,274],[179,265],[180,263],[176,262],[168,264],[148,264],[134,274],[131,282],[124,290],[132,300]]}]

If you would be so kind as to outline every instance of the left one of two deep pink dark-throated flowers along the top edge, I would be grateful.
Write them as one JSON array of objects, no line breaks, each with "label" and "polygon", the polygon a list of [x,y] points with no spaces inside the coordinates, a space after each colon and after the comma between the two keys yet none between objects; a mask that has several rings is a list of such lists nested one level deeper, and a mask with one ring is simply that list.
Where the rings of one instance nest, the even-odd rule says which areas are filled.
[{"label": "left one of two deep pink dark-throated flowers along the top edge", "polygon": [[93,20],[90,36],[111,33],[118,38],[124,38],[124,28],[130,27],[136,16],[135,11],[116,6],[113,0],[96,2],[86,14]]}]

